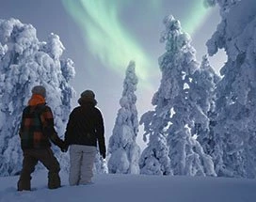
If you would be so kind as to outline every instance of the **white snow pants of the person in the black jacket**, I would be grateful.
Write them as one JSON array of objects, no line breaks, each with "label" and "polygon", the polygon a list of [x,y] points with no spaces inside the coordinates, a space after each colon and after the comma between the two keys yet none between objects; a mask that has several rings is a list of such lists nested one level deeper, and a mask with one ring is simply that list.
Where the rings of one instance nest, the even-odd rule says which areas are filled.
[{"label": "white snow pants of the person in the black jacket", "polygon": [[96,147],[71,145],[70,147],[70,185],[91,183]]}]

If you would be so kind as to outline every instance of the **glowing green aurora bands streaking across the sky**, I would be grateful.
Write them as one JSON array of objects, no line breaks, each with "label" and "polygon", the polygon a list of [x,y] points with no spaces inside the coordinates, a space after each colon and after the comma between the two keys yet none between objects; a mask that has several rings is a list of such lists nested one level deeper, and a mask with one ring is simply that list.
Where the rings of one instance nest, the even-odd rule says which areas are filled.
[{"label": "glowing green aurora bands streaking across the sky", "polygon": [[[105,68],[111,68],[121,75],[129,61],[134,60],[139,83],[149,85],[152,56],[120,18],[122,9],[129,4],[136,5],[136,1],[139,0],[62,0],[62,3],[83,32],[85,45],[95,59],[99,59]],[[146,6],[149,12],[161,13],[162,2],[148,0]],[[202,0],[189,0],[188,4],[190,9],[186,10],[182,25],[187,33],[193,35],[209,11],[203,8]]]}]

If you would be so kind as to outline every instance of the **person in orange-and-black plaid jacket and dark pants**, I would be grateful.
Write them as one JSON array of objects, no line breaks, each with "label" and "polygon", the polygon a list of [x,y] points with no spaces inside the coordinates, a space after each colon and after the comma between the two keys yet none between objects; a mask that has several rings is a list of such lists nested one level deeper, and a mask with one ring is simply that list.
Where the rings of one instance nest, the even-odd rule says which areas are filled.
[{"label": "person in orange-and-black plaid jacket and dark pants", "polygon": [[51,149],[51,142],[65,151],[65,144],[54,127],[52,110],[45,102],[46,90],[37,85],[32,89],[32,97],[24,108],[20,127],[21,146],[24,152],[23,169],[18,181],[18,191],[31,190],[31,173],[40,161],[49,171],[48,188],[60,187],[59,163]]}]

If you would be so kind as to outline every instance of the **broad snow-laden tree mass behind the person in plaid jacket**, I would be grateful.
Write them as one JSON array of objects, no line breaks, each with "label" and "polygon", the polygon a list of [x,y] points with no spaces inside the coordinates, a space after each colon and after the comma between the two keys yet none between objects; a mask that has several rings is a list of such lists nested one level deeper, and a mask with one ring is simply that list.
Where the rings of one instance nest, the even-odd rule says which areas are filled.
[{"label": "broad snow-laden tree mass behind the person in plaid jacket", "polygon": [[[31,24],[0,20],[0,176],[15,175],[21,170],[23,153],[18,130],[34,85],[45,86],[56,132],[60,136],[64,133],[74,93],[69,85],[74,69],[71,59],[60,60],[63,51],[55,34],[40,42]],[[66,158],[60,159],[67,165],[65,161]]]}]

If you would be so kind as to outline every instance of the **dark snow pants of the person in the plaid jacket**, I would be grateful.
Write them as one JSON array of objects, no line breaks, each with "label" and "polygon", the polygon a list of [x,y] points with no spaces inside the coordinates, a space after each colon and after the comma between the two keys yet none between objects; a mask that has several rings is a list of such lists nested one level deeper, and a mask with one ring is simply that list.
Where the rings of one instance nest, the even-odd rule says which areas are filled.
[{"label": "dark snow pants of the person in the plaid jacket", "polygon": [[24,149],[23,169],[18,181],[18,191],[31,190],[31,173],[35,170],[36,164],[40,161],[48,169],[48,188],[60,187],[59,163],[51,148]]}]

